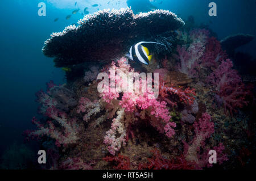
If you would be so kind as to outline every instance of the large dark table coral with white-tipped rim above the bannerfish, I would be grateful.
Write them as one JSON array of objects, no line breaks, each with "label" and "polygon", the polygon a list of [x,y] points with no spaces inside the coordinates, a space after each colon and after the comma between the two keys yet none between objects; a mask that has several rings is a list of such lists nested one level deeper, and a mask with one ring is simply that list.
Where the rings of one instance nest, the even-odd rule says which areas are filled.
[{"label": "large dark table coral with white-tipped rim above the bannerfish", "polygon": [[156,36],[184,26],[182,19],[167,10],[134,15],[129,8],[103,10],[84,16],[79,26],[52,33],[43,53],[54,57],[56,67],[89,61],[109,61],[138,41],[154,41]]}]

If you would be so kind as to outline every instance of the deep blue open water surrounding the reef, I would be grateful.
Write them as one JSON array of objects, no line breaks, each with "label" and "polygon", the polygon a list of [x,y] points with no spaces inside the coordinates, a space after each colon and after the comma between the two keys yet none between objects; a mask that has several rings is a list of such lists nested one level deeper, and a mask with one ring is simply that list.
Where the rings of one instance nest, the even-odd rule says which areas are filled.
[{"label": "deep blue open water surrounding the reef", "polygon": [[[38,15],[39,2],[46,3],[46,16]],[[216,17],[208,15],[209,2],[217,3]],[[99,6],[92,7],[96,3]],[[152,5],[171,10],[184,20],[193,15],[196,23],[209,24],[218,39],[234,33],[256,35],[254,0],[156,0]],[[143,10],[143,1],[139,6]],[[82,12],[85,7],[93,13],[97,9],[125,8],[127,3],[126,0],[1,0],[0,154],[14,140],[22,142],[24,130],[34,128],[31,118],[36,116],[38,107],[34,101],[35,92],[45,89],[46,82],[50,80],[57,85],[65,82],[63,70],[54,68],[52,59],[43,55],[43,43],[52,32],[62,31],[69,24],[77,23],[82,18],[80,13],[68,20],[65,17],[77,8]],[[59,20],[54,22],[56,18]],[[256,57],[255,45],[254,39],[240,50]]]}]

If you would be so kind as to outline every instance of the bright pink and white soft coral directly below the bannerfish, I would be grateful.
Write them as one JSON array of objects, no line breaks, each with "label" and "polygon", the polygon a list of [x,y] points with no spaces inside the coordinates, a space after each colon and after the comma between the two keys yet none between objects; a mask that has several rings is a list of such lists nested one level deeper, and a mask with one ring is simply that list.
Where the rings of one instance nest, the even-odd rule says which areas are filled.
[{"label": "bright pink and white soft coral directly below the bannerfish", "polygon": [[[113,62],[111,68],[115,70],[115,86],[128,85],[125,79],[122,79],[122,76],[135,73],[134,69],[131,69],[130,65],[126,64],[124,58],[119,60],[117,64]],[[111,76],[111,72],[109,75]],[[144,81],[139,79],[139,83],[142,85],[145,83]],[[173,128],[176,127],[176,124],[170,122],[171,116],[166,102],[155,99],[154,93],[148,90],[146,92],[137,92],[128,90],[126,86],[120,87],[121,90],[119,92],[103,92],[101,94],[102,100],[108,103],[106,107],[108,107],[109,111],[112,109],[112,111],[118,112],[118,119],[113,119],[112,129],[107,132],[104,141],[108,145],[108,150],[111,154],[114,155],[121,148],[121,145],[125,144],[125,132],[123,131],[127,130],[128,127],[130,128],[131,124],[138,119],[148,119],[153,127],[160,133],[165,133],[167,137],[175,134]],[[116,102],[118,102],[118,105]],[[125,115],[123,112],[125,112]],[[114,114],[112,113],[112,115]],[[114,127],[114,125],[118,125],[118,127]],[[117,131],[121,137],[116,137]]]}]

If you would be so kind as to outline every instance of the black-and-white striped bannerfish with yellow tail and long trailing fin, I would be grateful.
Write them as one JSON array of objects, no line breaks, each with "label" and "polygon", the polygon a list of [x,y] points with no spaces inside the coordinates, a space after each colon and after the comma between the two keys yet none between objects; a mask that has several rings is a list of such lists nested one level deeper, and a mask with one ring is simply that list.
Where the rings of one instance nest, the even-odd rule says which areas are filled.
[{"label": "black-and-white striped bannerfish with yellow tail and long trailing fin", "polygon": [[156,43],[154,41],[141,41],[131,46],[129,53],[126,54],[126,56],[130,58],[130,60],[140,61],[146,65],[148,65],[149,62],[151,61],[152,55],[150,54],[150,51],[148,50],[148,48],[144,47],[142,44],[159,44],[159,45],[166,46],[162,43]]}]

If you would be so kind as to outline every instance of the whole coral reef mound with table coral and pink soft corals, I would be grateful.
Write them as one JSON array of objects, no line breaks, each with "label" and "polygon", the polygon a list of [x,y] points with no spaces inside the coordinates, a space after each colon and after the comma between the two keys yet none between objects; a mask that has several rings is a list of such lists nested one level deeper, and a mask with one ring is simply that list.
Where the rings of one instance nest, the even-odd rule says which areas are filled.
[{"label": "whole coral reef mound with table coral and pink soft corals", "polygon": [[[43,117],[32,119],[37,130],[25,132],[27,138],[40,138],[51,159],[47,168],[253,164],[255,96],[246,85],[253,82],[242,81],[212,31],[196,27],[192,17],[189,21],[175,32],[184,22],[170,11],[104,10],[51,35],[43,52],[55,57],[56,66],[73,65],[72,79],[60,86],[51,81],[46,92],[36,94]],[[170,46],[156,47],[164,54],[148,66],[130,64],[123,56],[142,39]],[[210,150],[216,151],[217,164],[209,163]]]}]

